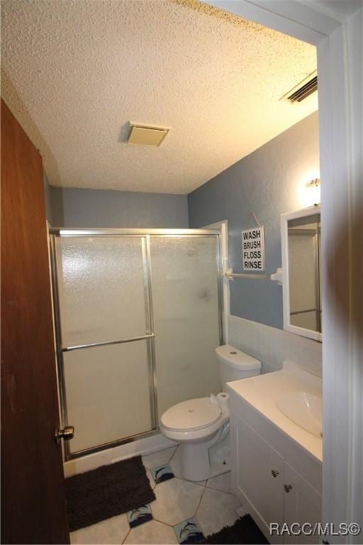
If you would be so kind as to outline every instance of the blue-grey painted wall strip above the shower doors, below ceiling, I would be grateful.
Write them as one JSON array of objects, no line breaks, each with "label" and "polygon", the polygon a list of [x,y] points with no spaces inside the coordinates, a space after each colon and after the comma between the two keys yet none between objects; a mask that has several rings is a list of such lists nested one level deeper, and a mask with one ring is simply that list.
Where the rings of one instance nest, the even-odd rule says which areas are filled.
[{"label": "blue-grey painted wall strip above the shower doors, below ceiling", "polygon": [[48,187],[45,194],[53,227],[188,227],[186,195],[71,187]]}]

